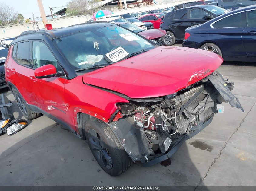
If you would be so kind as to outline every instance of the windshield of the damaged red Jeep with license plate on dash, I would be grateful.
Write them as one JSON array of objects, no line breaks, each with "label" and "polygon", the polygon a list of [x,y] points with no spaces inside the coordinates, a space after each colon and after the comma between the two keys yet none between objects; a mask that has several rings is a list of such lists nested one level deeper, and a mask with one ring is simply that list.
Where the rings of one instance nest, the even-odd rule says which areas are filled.
[{"label": "windshield of the damaged red Jeep with license plate on dash", "polygon": [[140,35],[117,25],[65,35],[53,43],[74,70],[104,67],[155,48]]}]

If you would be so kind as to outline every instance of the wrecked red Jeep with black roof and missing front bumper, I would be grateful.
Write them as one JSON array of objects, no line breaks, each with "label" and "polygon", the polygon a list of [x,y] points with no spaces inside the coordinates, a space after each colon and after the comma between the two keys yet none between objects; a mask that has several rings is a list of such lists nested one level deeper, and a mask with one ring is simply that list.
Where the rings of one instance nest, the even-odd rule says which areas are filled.
[{"label": "wrecked red Jeep with black roof and missing front bumper", "polygon": [[42,113],[70,128],[117,176],[131,161],[147,166],[171,157],[223,113],[221,101],[243,110],[234,84],[214,72],[222,61],[101,22],[16,37],[5,77],[27,119]]}]

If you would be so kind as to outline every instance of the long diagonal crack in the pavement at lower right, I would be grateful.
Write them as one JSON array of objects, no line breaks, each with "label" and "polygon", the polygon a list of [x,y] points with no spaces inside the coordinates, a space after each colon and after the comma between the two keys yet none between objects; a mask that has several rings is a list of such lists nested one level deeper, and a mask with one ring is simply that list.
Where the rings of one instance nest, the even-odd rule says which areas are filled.
[{"label": "long diagonal crack in the pavement at lower right", "polygon": [[[255,102],[256,103],[256,102]],[[217,154],[217,156],[214,158],[214,160],[211,162],[210,166],[208,167],[208,169],[206,170],[206,172],[204,173],[204,176],[201,177],[199,183],[197,184],[197,186],[195,187],[194,191],[197,189],[197,187],[199,186],[199,184],[201,182],[204,181],[205,177],[207,176],[210,168],[212,167],[212,165],[215,163],[215,161],[220,158],[221,156],[221,152],[223,151],[223,149],[227,146],[228,141],[230,140],[230,138],[234,135],[234,133],[236,133],[238,131],[238,128],[242,125],[242,123],[244,122],[244,120],[246,119],[246,117],[248,116],[248,114],[251,112],[252,108],[254,107],[255,103],[252,105],[251,109],[248,111],[248,113],[244,116],[244,118],[241,120],[241,122],[238,124],[238,126],[234,129],[234,131],[231,133],[231,135],[228,137],[228,139],[226,140],[226,142],[224,143],[224,145],[221,147],[219,153]]]}]

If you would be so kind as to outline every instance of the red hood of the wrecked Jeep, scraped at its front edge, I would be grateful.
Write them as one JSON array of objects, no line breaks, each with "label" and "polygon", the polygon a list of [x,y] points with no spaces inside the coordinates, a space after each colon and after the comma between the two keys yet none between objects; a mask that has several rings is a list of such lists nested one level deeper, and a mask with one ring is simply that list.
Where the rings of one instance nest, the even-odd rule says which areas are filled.
[{"label": "red hood of the wrecked Jeep, scraped at its front edge", "polygon": [[222,62],[217,54],[205,50],[159,46],[86,73],[83,82],[131,98],[165,96],[205,78]]}]

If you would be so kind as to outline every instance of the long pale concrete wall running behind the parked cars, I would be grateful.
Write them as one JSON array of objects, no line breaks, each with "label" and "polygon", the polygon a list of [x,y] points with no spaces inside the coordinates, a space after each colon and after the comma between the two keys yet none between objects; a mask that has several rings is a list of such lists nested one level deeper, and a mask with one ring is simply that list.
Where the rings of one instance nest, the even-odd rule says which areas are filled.
[{"label": "long pale concrete wall running behind the parked cars", "polygon": [[[126,13],[138,12],[138,11],[148,11],[148,10],[158,9],[158,8],[172,7],[172,6],[178,5],[180,3],[193,2],[195,0],[182,0],[182,1],[168,0],[168,2],[169,1],[170,1],[170,3],[158,4],[158,5],[148,5],[148,6],[136,7],[136,8],[128,8],[128,9],[122,9],[122,10],[113,11],[113,12],[115,14],[126,14]],[[166,0],[164,2],[166,2]],[[62,18],[50,20],[50,21],[48,21],[48,24],[52,24],[53,28],[59,28],[59,27],[67,27],[67,26],[74,25],[74,24],[85,23],[85,21],[88,21],[90,19],[91,19],[91,15],[62,17]],[[38,27],[45,28],[43,26],[43,22],[38,22]],[[0,27],[0,38],[16,37],[20,33],[27,31],[27,30],[33,30],[32,23],[3,26],[3,27]]]}]

